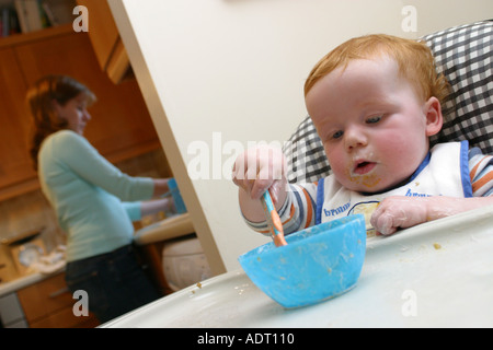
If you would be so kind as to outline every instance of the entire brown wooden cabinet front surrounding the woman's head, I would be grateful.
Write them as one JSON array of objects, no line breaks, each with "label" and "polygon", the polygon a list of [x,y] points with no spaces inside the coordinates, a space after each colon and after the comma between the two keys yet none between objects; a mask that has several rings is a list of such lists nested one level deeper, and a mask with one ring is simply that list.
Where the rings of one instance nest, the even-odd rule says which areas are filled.
[{"label": "entire brown wooden cabinet front surrounding the woman's head", "polygon": [[71,24],[0,39],[0,200],[39,187],[28,154],[28,86],[46,74],[67,74],[98,96],[84,136],[111,162],[160,148],[135,79],[115,85],[101,70],[88,33]]}]

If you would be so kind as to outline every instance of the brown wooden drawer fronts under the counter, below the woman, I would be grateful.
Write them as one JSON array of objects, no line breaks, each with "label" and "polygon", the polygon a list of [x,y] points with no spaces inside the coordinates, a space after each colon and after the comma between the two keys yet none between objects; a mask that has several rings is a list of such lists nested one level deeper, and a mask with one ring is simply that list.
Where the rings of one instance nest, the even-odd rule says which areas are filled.
[{"label": "brown wooden drawer fronts under the counter, below the woman", "polygon": [[65,283],[65,273],[58,273],[16,292],[31,328],[76,328],[99,326],[93,314],[76,316],[73,299]]}]

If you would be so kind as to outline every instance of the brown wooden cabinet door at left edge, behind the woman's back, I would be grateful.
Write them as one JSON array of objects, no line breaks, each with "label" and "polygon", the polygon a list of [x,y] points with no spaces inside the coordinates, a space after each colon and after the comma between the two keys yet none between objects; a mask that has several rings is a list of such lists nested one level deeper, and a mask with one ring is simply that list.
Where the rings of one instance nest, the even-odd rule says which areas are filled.
[{"label": "brown wooden cabinet door at left edge, behind the woman's back", "polygon": [[0,188],[36,177],[28,154],[26,86],[14,51],[0,49]]}]

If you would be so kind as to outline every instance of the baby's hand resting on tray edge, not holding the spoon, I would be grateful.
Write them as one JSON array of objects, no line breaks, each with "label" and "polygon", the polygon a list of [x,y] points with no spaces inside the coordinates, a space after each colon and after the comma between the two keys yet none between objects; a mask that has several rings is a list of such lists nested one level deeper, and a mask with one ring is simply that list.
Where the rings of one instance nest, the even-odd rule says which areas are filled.
[{"label": "baby's hand resting on tray edge, not holding the spoon", "polygon": [[428,221],[427,198],[393,196],[383,199],[371,215],[377,234],[390,235]]}]

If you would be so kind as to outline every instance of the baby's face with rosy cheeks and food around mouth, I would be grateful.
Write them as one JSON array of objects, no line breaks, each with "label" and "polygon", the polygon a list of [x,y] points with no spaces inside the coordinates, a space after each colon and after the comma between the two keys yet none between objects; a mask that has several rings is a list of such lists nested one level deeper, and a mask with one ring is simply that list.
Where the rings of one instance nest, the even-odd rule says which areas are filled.
[{"label": "baby's face with rosy cheeks and food around mouth", "polygon": [[313,85],[306,104],[335,177],[348,189],[394,186],[428,151],[425,102],[389,58],[335,69]]}]

